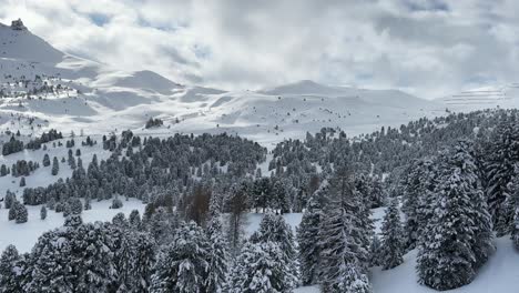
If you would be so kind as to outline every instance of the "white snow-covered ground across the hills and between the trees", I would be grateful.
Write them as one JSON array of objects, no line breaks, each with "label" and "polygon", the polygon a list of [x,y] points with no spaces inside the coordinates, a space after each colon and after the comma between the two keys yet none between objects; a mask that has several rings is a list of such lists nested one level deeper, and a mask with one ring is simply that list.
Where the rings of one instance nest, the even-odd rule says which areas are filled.
[{"label": "white snow-covered ground across the hills and between the trees", "polygon": [[[477,89],[437,101],[426,101],[395,90],[367,90],[357,88],[328,87],[312,81],[281,85],[262,91],[228,92],[183,85],[151,71],[123,72],[95,61],[62,53],[30,31],[13,31],[0,26],[0,89],[10,95],[0,100],[0,132],[16,132],[38,135],[54,128],[64,135],[73,130],[77,134],[95,135],[98,145],[81,146],[84,165],[93,155],[99,160],[109,153],[101,149],[100,135],[111,131],[118,133],[132,129],[143,135],[171,135],[176,132],[203,133],[228,132],[253,139],[265,146],[291,138],[304,138],[306,132],[315,133],[320,128],[340,128],[348,135],[367,133],[380,127],[399,127],[421,117],[446,113],[446,108],[469,111],[489,107],[511,108],[519,105],[517,85]],[[37,75],[52,85],[67,85],[67,90],[40,93],[27,99],[22,77],[34,81]],[[31,85],[32,87],[32,85]],[[32,95],[32,94],[31,94]],[[151,117],[164,120],[164,127],[144,130]],[[179,123],[177,123],[179,122]],[[0,141],[9,135],[0,135]],[[77,148],[83,138],[77,138]],[[64,144],[64,143],[63,143]],[[74,154],[75,149],[73,148]],[[23,151],[0,156],[0,164],[10,166],[17,160],[33,160],[41,164],[43,154],[67,155],[64,146],[48,151]],[[261,165],[267,174],[267,163]],[[28,176],[27,186],[47,186],[59,178],[70,176],[67,163],[60,163],[58,176],[50,174],[50,168],[40,166]],[[0,196],[6,190],[21,194],[20,178],[0,178]],[[115,213],[144,205],[135,200],[124,202],[119,210],[109,209],[110,202],[92,202],[92,210],[83,212],[83,221],[108,221]],[[28,252],[41,233],[60,226],[62,214],[48,211],[48,218],[40,220],[40,206],[28,206],[29,221],[16,224],[8,221],[7,210],[0,209],[0,251],[14,244],[21,252]],[[374,210],[376,231],[379,231],[384,209]],[[262,214],[247,216],[246,233],[257,230]],[[285,220],[295,228],[301,214],[286,214]],[[457,293],[516,292],[519,283],[519,252],[507,238],[496,240],[497,251],[480,270],[476,280]],[[372,270],[370,280],[376,293],[434,292],[417,283],[416,251],[405,255],[405,262],[389,271]],[[297,293],[318,292],[317,286],[301,287]]]}]

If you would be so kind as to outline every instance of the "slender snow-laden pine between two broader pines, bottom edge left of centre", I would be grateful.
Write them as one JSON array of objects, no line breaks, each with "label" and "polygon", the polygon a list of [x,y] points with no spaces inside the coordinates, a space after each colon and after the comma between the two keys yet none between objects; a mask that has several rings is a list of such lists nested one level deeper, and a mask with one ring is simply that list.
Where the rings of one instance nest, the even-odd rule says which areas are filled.
[{"label": "slender snow-laden pine between two broader pines, bottom edge left of centre", "polygon": [[221,293],[225,285],[228,272],[228,244],[223,234],[222,222],[218,216],[213,216],[207,225],[210,242],[208,269],[205,287],[207,292]]}]

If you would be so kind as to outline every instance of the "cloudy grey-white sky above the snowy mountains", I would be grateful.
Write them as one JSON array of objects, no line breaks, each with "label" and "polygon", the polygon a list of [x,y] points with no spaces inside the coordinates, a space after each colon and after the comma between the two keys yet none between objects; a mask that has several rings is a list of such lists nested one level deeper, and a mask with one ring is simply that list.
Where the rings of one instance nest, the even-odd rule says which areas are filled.
[{"label": "cloudy grey-white sky above the snowy mountains", "polygon": [[174,81],[312,79],[423,98],[519,82],[517,0],[0,0],[58,49]]}]

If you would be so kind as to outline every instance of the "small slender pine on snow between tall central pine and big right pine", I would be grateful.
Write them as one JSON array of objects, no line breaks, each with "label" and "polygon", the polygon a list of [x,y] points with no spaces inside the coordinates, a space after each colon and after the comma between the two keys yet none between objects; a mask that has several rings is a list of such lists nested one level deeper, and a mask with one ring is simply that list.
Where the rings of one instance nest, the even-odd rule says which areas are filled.
[{"label": "small slender pine on snow between tall central pine and big right pine", "polygon": [[393,199],[386,210],[381,226],[380,262],[384,270],[393,269],[404,262],[404,231],[398,209],[398,198]]}]

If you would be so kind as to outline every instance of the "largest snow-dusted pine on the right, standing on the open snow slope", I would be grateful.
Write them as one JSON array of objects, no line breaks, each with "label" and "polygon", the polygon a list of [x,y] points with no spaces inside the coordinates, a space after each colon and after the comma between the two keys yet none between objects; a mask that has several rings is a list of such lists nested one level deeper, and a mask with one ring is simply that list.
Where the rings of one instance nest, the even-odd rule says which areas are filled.
[{"label": "largest snow-dusted pine on the right, standing on the open snow slope", "polygon": [[488,257],[490,218],[466,144],[444,153],[439,164],[438,203],[418,247],[417,271],[420,283],[450,290],[470,283]]}]

